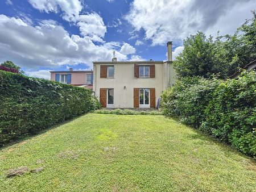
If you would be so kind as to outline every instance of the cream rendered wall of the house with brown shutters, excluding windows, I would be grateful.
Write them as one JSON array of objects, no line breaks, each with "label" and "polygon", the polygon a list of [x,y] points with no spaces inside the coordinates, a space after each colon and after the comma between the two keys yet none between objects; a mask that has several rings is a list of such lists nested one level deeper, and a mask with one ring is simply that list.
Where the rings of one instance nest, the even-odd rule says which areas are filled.
[{"label": "cream rendered wall of the house with brown shutters, excluding windows", "polygon": [[[133,108],[134,88],[155,88],[156,102],[163,91],[163,62],[144,63],[155,64],[155,78],[134,77],[134,64],[131,63],[94,63],[93,65],[93,91],[100,98],[100,88],[114,88],[114,108]],[[100,65],[114,65],[114,78],[100,78]],[[142,65],[141,63],[139,65]],[[126,89],[124,89],[126,86]]]}]

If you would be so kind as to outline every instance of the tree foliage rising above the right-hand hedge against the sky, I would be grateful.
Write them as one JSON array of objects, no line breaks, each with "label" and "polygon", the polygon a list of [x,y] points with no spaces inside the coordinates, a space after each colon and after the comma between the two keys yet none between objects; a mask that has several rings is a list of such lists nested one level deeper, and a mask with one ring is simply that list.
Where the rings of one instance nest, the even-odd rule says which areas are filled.
[{"label": "tree foliage rising above the right-hand hedge against the sky", "polygon": [[247,19],[234,35],[213,40],[197,32],[184,40],[184,49],[176,57],[174,68],[178,78],[204,77],[213,74],[225,79],[256,59],[256,14]]}]

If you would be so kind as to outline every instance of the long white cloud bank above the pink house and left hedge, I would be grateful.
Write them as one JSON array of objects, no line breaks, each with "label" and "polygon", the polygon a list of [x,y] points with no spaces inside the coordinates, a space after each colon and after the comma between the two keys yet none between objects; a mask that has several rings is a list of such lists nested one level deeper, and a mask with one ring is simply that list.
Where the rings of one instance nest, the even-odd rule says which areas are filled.
[{"label": "long white cloud bank above the pink house and left hedge", "polygon": [[118,43],[95,45],[89,36],[69,35],[63,26],[52,21],[34,27],[6,15],[0,15],[0,36],[1,62],[11,60],[31,71],[66,64],[92,66],[92,61],[110,61],[113,50],[118,60],[126,60],[127,54],[135,52],[129,44],[122,48],[122,53],[117,51]]}]

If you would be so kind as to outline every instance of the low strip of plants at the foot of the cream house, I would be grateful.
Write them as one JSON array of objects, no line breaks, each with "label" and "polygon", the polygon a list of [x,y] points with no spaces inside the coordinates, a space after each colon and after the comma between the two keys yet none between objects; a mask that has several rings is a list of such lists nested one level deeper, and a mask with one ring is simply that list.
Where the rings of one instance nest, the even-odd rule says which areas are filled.
[{"label": "low strip of plants at the foot of the cream house", "polygon": [[96,110],[94,111],[96,114],[115,114],[115,115],[163,115],[162,112],[159,111],[134,111],[134,110],[122,110],[122,109],[115,109],[115,110]]}]

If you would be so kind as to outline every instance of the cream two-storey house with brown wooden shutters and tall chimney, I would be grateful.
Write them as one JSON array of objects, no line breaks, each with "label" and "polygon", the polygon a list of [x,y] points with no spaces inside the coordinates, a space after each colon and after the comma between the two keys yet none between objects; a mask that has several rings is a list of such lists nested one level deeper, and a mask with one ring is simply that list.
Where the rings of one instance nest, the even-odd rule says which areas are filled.
[{"label": "cream two-storey house with brown wooden shutters and tall chimney", "polygon": [[167,61],[95,61],[93,91],[102,107],[155,108],[162,91],[175,83],[172,42]]}]

